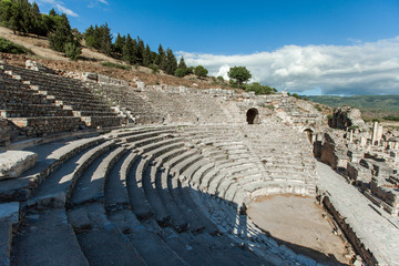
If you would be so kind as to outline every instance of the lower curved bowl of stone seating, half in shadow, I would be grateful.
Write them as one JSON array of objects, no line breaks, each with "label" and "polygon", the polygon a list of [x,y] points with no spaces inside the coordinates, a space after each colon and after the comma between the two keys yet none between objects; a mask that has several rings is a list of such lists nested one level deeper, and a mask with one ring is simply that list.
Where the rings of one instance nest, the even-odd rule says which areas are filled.
[{"label": "lower curved bowl of stone seating, half in shadow", "polygon": [[[262,192],[314,193],[306,136],[278,130],[287,141],[264,125],[143,126],[37,146],[53,151],[0,194],[29,192],[12,264],[316,265],[245,213]],[[289,168],[285,145],[297,150]]]}]

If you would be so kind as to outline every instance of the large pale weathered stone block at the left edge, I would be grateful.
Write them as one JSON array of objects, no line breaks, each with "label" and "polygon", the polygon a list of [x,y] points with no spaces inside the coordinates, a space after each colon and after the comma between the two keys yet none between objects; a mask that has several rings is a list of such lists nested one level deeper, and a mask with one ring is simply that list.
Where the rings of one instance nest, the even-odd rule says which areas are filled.
[{"label": "large pale weathered stone block at the left edge", "polygon": [[0,154],[0,180],[16,178],[34,166],[38,154],[27,151],[7,151]]}]

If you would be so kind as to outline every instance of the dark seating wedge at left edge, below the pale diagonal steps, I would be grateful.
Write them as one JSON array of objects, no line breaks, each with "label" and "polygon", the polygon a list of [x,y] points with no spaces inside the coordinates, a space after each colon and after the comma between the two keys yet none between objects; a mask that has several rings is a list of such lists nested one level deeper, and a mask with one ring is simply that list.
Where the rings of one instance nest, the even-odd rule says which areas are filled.
[{"label": "dark seating wedge at left edge, below the pale diagonal steps", "polygon": [[82,124],[71,110],[57,106],[53,99],[31,90],[3,70],[0,70],[0,114],[25,136],[75,131]]}]

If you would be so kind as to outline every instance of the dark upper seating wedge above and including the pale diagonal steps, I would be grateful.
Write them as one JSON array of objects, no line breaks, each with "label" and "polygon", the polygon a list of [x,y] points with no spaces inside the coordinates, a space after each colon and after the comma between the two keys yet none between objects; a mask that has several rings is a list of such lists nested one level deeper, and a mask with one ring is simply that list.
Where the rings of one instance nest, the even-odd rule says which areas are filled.
[{"label": "dark upper seating wedge above and including the pale diagonal steps", "polygon": [[[55,105],[61,106],[62,111],[60,111],[61,113],[59,114],[64,114],[68,111],[70,113],[72,111],[73,116],[80,117],[85,125],[90,127],[115,126],[122,123],[121,117],[116,116],[116,113],[114,113],[104,101],[95,98],[91,91],[78,80],[25,70],[9,64],[3,65],[3,69],[4,73],[21,80],[25,90],[35,91],[37,94],[39,94],[38,96],[43,95],[41,96],[42,99],[52,100]],[[19,100],[18,103],[21,103],[21,100]],[[9,115],[13,113],[9,112]],[[40,114],[40,112],[38,114]],[[49,114],[51,115],[52,113],[49,112]],[[57,114],[58,113],[55,113],[55,115]]]}]

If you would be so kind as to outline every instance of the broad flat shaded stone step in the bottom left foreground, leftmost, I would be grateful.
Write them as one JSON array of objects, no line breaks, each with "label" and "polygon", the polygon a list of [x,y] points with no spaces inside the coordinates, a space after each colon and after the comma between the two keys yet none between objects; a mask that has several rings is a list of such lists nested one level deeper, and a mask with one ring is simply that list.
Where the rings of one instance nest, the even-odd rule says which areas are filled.
[{"label": "broad flat shaded stone step in the bottom left foreground, leftmost", "polygon": [[64,209],[28,215],[12,253],[12,265],[89,266]]}]

